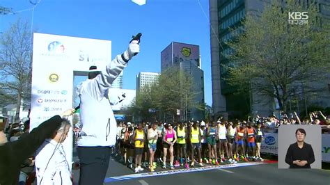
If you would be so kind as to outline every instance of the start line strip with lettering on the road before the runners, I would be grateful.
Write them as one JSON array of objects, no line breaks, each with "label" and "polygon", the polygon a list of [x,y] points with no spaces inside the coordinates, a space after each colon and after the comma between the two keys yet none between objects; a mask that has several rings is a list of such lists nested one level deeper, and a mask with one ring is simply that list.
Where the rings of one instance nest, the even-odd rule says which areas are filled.
[{"label": "start line strip with lettering on the road before the runners", "polygon": [[249,163],[226,164],[226,165],[221,165],[221,166],[204,166],[204,167],[200,167],[200,168],[168,170],[168,171],[161,171],[161,172],[134,173],[131,175],[108,177],[108,178],[104,179],[104,183],[117,182],[117,181],[136,179],[136,178],[155,177],[155,176],[161,176],[161,175],[173,175],[173,174],[184,173],[184,172],[201,172],[201,171],[207,171],[207,170],[222,170],[225,172],[233,173],[229,170],[223,170],[223,169],[224,168],[237,168],[237,167],[243,167],[243,166],[255,166],[255,165],[260,165],[260,164],[265,164],[265,163],[249,162]]}]

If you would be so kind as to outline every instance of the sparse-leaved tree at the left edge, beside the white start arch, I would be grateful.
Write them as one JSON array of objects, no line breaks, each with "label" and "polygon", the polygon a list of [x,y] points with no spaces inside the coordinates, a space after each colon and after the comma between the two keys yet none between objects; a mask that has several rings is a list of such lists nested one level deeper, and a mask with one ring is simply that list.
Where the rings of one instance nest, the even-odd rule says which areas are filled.
[{"label": "sparse-leaved tree at the left edge, beside the white start arch", "polygon": [[[31,26],[18,19],[0,37],[0,98],[1,103],[16,104],[15,120],[19,109],[31,100]],[[24,105],[24,104],[23,104]]]}]

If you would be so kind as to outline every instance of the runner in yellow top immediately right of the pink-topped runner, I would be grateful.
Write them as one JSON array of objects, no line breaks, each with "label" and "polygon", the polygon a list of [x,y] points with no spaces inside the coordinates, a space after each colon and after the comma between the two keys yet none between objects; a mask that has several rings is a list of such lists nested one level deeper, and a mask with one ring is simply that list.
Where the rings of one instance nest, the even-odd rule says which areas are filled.
[{"label": "runner in yellow top immediately right of the pink-topped runner", "polygon": [[184,168],[189,169],[189,165],[187,163],[187,145],[186,145],[186,138],[187,138],[187,128],[184,127],[183,122],[179,122],[179,127],[176,128],[176,134],[177,134],[177,161],[175,162],[174,166],[178,166],[178,163],[180,166],[183,166],[183,159],[184,156]]}]

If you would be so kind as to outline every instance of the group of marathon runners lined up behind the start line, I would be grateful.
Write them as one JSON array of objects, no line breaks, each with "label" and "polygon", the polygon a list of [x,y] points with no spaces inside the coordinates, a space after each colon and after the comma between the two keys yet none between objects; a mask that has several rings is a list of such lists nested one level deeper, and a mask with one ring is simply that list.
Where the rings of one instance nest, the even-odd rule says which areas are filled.
[{"label": "group of marathon runners lined up behind the start line", "polygon": [[[157,166],[219,165],[237,161],[263,161],[260,145],[264,136],[258,122],[175,122],[118,125],[120,161],[135,172]],[[169,157],[169,163],[167,157]],[[133,167],[133,159],[135,167]],[[143,163],[142,163],[143,161]]]}]

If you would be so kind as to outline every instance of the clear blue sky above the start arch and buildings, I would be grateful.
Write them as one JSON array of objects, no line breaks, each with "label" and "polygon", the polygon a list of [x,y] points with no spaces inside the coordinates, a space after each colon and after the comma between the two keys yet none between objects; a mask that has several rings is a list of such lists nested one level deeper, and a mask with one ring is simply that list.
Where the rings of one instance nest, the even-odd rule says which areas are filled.
[{"label": "clear blue sky above the start arch and buildings", "polygon": [[[42,0],[34,10],[33,29],[111,40],[112,57],[125,51],[131,36],[141,32],[141,53],[124,71],[123,86],[128,89],[135,89],[139,72],[160,72],[160,52],[171,42],[199,45],[205,102],[212,105],[209,4],[208,0],[199,2],[201,6],[198,0],[147,0],[139,6],[131,0]],[[14,12],[33,8],[29,0],[1,0],[0,6]],[[19,17],[31,22],[32,10],[0,15],[0,31],[7,31]]]}]

